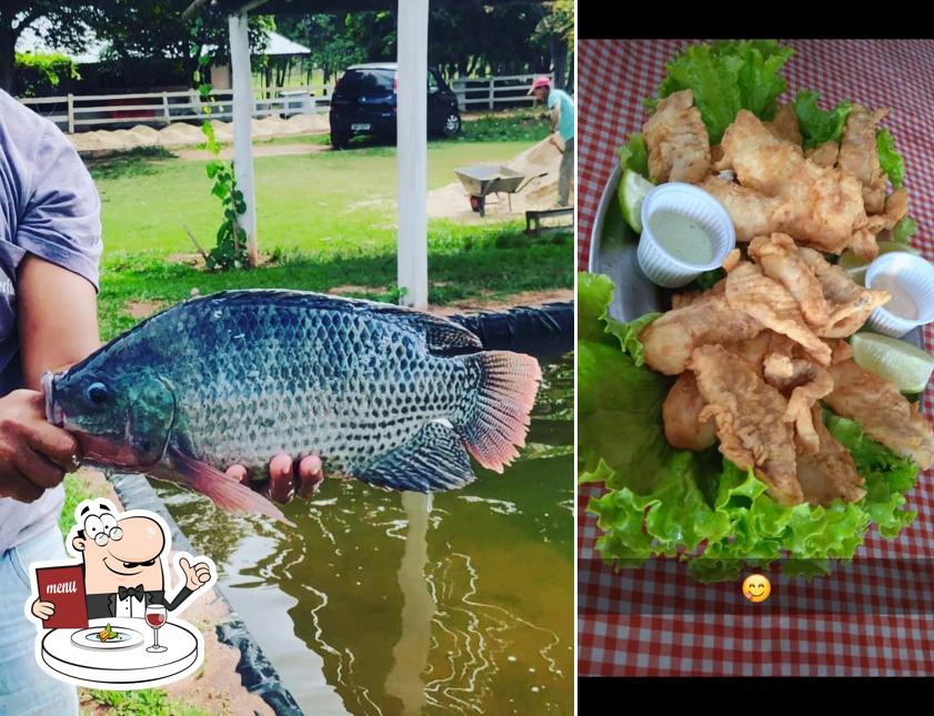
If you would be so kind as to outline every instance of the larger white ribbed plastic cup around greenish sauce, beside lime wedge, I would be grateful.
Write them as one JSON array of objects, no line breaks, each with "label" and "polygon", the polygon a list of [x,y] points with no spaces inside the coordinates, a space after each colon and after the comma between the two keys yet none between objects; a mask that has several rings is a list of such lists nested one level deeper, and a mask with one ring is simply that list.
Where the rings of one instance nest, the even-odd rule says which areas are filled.
[{"label": "larger white ribbed plastic cup around greenish sauce, beside lime wedge", "polygon": [[[689,263],[673,256],[652,233],[652,216],[660,211],[681,214],[694,221],[710,236],[713,258],[709,263]],[[736,248],[733,220],[713,195],[703,189],[682,182],[661,184],[646,194],[642,202],[642,236],[639,240],[639,265],[653,282],[666,289],[677,289],[691,283],[704,271],[723,265]]]}]

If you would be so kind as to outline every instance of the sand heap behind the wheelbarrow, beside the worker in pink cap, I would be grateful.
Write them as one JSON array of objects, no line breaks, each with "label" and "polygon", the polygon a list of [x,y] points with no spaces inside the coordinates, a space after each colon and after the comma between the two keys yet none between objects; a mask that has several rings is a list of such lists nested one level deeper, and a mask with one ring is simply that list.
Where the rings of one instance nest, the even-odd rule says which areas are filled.
[{"label": "sand heap behind the wheelbarrow, beside the worker in pink cap", "polygon": [[[538,174],[544,175],[532,179],[522,191],[513,193],[512,196],[488,195],[485,209],[488,216],[521,215],[528,210],[554,206],[558,201],[558,171],[561,167],[561,152],[554,144],[549,140],[543,140],[505,162],[505,167],[523,174],[526,180]],[[510,202],[512,211],[510,211]],[[471,210],[470,196],[460,181],[428,193],[428,215],[430,219],[480,220],[480,214]]]}]

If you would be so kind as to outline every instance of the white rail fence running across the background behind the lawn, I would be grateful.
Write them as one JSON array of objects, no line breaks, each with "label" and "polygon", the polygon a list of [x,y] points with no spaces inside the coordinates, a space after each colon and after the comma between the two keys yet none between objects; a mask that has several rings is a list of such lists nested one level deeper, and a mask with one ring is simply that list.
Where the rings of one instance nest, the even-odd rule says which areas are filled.
[{"label": "white rail fence running across the background behind the lawn", "polygon": [[[512,74],[489,78],[458,78],[451,89],[461,110],[500,109],[532,105],[529,89],[535,74]],[[270,87],[254,90],[253,117],[311,114],[324,112],[331,103],[333,84]],[[180,92],[142,92],[135,94],[68,94],[66,97],[26,98],[20,100],[36,112],[56,122],[69,133],[84,129],[109,129],[117,124],[165,125],[172,122],[200,121],[203,108],[211,108],[211,118],[229,120],[233,110],[233,91],[215,90],[211,101],[202,102],[195,90]]]}]

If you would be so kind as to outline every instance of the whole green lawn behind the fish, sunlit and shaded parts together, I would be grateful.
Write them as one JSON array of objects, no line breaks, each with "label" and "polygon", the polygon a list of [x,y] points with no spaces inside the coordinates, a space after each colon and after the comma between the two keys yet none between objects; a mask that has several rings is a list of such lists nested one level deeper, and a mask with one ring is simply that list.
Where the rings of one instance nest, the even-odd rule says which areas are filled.
[{"label": "whole green lawn behind the fish, sunlit and shaded parts together", "polygon": [[[456,181],[456,167],[504,162],[548,135],[534,112],[465,122],[463,135],[428,148],[429,190]],[[307,135],[273,143],[328,142]],[[261,145],[261,144],[260,144]],[[204,161],[140,150],[91,163],[103,201],[100,316],[104,339],[139,319],[128,304],[168,305],[242,288],[329,291],[395,301],[395,148],[362,139],[349,151],[257,157],[260,251],[272,261],[250,271],[208,272],[170,260],[214,244],[221,209]],[[466,198],[464,198],[466,208]],[[530,238],[519,222],[429,222],[429,299],[445,304],[573,285],[570,229]]]}]

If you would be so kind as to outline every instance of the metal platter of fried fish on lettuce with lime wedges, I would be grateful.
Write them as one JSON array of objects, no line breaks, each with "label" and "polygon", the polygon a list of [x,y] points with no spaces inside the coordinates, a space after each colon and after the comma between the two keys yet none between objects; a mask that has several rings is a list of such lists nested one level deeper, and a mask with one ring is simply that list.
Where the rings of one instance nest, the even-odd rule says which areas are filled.
[{"label": "metal platter of fried fish on lettuce with lime wedges", "polygon": [[[934,464],[917,410],[934,359],[921,327],[865,332],[895,295],[872,262],[920,253],[897,137],[884,108],[823,110],[803,88],[779,107],[791,54],[731,41],[676,57],[599,204],[589,268],[603,275],[578,289],[579,446],[581,481],[606,488],[589,505],[596,548],[619,566],[664,555],[702,582],[744,564],[827,575],[871,527],[893,539],[917,516],[905,494]],[[721,64],[745,68],[736,87]],[[653,192],[676,182],[729,213],[736,249],[716,271],[672,249],[683,231],[660,238],[653,263],[639,254],[646,225],[665,230],[651,224]],[[666,255],[662,269],[696,268],[694,282],[650,281],[684,283],[659,271]],[[926,263],[911,259],[892,278],[918,325],[934,282],[908,275]]]}]

